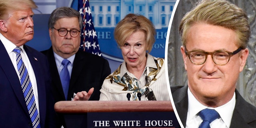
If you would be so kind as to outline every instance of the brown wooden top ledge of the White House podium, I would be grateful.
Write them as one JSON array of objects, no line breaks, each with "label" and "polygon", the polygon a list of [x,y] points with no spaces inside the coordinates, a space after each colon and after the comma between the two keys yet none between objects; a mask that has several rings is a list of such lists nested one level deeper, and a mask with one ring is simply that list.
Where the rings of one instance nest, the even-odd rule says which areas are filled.
[{"label": "brown wooden top ledge of the White House podium", "polygon": [[171,101],[59,101],[60,113],[86,112],[173,112]]}]

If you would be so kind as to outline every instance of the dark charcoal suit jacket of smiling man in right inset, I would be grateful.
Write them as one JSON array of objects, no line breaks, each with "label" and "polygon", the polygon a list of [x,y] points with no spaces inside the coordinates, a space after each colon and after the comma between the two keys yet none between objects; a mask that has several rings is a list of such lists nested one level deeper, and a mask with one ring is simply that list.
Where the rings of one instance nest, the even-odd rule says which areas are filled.
[{"label": "dark charcoal suit jacket of smiling man in right inset", "polygon": [[[188,86],[171,86],[172,98],[180,120],[186,127],[188,113]],[[256,108],[246,102],[236,90],[236,104],[230,128],[256,128]]]}]

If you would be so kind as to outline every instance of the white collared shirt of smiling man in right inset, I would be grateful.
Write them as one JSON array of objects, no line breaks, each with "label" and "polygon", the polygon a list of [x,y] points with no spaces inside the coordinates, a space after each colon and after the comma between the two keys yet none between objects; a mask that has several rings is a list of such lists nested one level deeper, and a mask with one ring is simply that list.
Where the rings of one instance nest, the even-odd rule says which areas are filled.
[{"label": "white collared shirt of smiling man in right inset", "polygon": [[210,108],[204,106],[198,100],[196,100],[196,98],[188,88],[188,115],[186,120],[186,128],[198,128],[198,126],[203,121],[198,115],[198,112],[205,108],[215,109],[220,114],[220,118],[210,123],[211,128],[229,128],[235,104],[236,94],[234,93],[232,99],[222,106],[219,106],[217,108]]}]

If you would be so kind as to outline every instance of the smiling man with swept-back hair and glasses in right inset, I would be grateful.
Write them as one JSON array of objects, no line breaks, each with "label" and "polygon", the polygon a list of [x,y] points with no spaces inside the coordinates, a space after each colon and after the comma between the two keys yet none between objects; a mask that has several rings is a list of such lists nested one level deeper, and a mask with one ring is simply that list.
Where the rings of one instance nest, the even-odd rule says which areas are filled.
[{"label": "smiling man with swept-back hair and glasses in right inset", "polygon": [[256,128],[256,108],[236,90],[249,54],[245,12],[226,0],[202,0],[180,22],[188,86],[172,86],[186,128]]}]

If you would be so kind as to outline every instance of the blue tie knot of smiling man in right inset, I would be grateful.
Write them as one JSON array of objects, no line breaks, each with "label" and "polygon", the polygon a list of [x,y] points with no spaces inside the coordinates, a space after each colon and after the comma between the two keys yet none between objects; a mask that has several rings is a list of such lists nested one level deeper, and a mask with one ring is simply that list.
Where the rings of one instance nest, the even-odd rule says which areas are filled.
[{"label": "blue tie knot of smiling man in right inset", "polygon": [[214,109],[204,109],[199,112],[199,116],[202,118],[203,122],[198,128],[211,128],[210,123],[218,118],[220,118],[219,113]]}]

